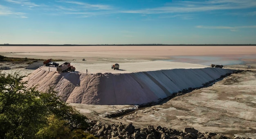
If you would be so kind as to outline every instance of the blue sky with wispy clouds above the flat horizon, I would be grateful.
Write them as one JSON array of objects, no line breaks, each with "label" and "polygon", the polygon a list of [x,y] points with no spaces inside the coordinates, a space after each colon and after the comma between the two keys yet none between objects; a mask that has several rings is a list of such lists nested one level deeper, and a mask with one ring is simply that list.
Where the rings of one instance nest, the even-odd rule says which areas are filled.
[{"label": "blue sky with wispy clouds above the flat horizon", "polygon": [[256,0],[0,0],[0,44],[256,44]]}]

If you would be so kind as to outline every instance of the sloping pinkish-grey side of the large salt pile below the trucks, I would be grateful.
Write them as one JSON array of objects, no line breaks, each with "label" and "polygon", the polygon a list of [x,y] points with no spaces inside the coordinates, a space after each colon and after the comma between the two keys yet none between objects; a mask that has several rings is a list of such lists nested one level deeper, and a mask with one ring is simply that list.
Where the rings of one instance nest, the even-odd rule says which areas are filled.
[{"label": "sloping pinkish-grey side of the large salt pile below the trucks", "polygon": [[183,89],[201,87],[234,70],[221,68],[173,69],[128,74],[81,74],[37,69],[28,85],[50,88],[68,103],[120,105],[156,102]]}]

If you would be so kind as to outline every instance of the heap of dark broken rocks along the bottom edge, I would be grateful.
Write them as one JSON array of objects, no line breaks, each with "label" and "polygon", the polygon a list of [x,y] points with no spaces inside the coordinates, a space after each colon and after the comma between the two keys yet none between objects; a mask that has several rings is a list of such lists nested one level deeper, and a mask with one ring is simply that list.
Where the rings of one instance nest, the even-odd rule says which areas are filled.
[{"label": "heap of dark broken rocks along the bottom edge", "polygon": [[165,127],[148,125],[145,128],[136,128],[132,123],[114,123],[112,125],[101,121],[89,120],[90,128],[86,130],[99,139],[250,139],[245,137],[226,137],[214,132],[198,132],[194,128],[185,128],[183,131]]}]

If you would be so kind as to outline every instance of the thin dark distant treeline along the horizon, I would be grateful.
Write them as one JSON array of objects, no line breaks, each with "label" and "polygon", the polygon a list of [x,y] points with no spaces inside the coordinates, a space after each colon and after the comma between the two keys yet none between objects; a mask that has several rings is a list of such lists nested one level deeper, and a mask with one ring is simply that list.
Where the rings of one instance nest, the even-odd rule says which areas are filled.
[{"label": "thin dark distant treeline along the horizon", "polygon": [[179,44],[179,45],[167,45],[167,44],[125,44],[125,45],[32,45],[32,44],[0,44],[0,46],[256,46],[256,44]]}]

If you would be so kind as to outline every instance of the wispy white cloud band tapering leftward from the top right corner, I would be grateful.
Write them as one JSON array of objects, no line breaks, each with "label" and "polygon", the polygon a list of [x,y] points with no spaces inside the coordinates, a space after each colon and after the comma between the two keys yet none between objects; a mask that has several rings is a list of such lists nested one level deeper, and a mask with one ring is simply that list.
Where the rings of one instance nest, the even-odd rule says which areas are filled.
[{"label": "wispy white cloud band tapering leftward from the top right corner", "polygon": [[151,9],[127,10],[124,13],[191,13],[202,11],[229,10],[229,9],[247,9],[256,8],[255,0],[212,0],[212,1],[182,1],[169,3],[165,7],[156,7]]}]

